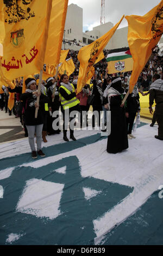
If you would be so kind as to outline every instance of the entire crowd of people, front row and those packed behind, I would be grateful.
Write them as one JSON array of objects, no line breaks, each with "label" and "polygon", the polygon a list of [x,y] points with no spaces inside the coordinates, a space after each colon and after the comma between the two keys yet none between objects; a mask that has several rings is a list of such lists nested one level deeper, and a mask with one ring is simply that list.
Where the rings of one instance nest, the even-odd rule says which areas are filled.
[{"label": "entire crowd of people, front row and those packed behind", "polygon": [[[125,51],[125,49],[118,49],[118,51]],[[87,112],[92,106],[92,129],[97,126],[101,127],[102,132],[107,129],[107,110],[111,111],[111,133],[108,136],[107,151],[109,153],[121,152],[128,148],[128,139],[134,139],[132,134],[133,124],[137,112],[140,112],[139,91],[142,95],[146,95],[144,91],[149,91],[149,111],[152,113],[153,100],[156,99],[156,121],[159,124],[159,133],[155,138],[163,140],[163,80],[162,80],[162,58],[158,55],[158,47],[156,47],[145,68],[142,70],[134,90],[129,94],[126,102],[122,104],[122,100],[129,89],[129,79],[131,72],[121,72],[116,74],[108,74],[107,62],[104,59],[95,65],[95,75],[92,77],[91,85],[86,84],[83,90],[77,94],[77,81],[79,73],[78,51],[70,50],[67,58],[72,57],[76,66],[74,73],[68,76],[62,74],[60,79],[56,80],[49,77],[46,81],[42,81],[41,92],[37,91],[37,84],[35,78],[28,78],[25,81],[26,92],[22,93],[23,79],[16,80],[16,87],[2,86],[4,93],[0,94],[0,108],[8,109],[9,92],[15,92],[15,104],[12,109],[15,117],[20,117],[22,126],[24,127],[24,134],[28,136],[29,145],[32,151],[32,158],[37,158],[37,154],[45,157],[42,152],[41,142],[47,142],[46,135],[59,134],[60,120],[59,109],[63,116],[63,139],[69,141],[67,138],[68,123],[70,128],[70,139],[76,141],[74,136],[74,126],[76,123],[77,112],[80,113],[80,127],[88,126]],[[104,50],[105,57],[111,51]],[[44,67],[45,68],[45,67]],[[158,84],[156,84],[156,82]],[[155,82],[154,90],[151,87]],[[37,97],[40,97],[39,104]],[[37,118],[35,118],[35,110],[38,109]],[[101,112],[103,111],[103,120],[101,122]],[[97,115],[94,115],[96,112]],[[96,117],[99,117],[96,120]],[[85,121],[85,122],[84,122]],[[35,148],[34,138],[36,136],[37,151]]]}]

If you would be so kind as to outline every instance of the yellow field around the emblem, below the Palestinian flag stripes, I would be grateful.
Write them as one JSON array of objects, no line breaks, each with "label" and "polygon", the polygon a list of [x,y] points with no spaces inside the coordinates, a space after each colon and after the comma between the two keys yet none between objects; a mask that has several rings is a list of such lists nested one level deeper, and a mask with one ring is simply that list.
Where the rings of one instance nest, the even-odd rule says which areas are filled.
[{"label": "yellow field around the emblem, below the Palestinian flag stripes", "polygon": [[[133,70],[133,58],[120,59],[118,61],[124,62],[125,68],[123,69],[123,72],[128,72]],[[119,72],[117,69],[115,69],[115,63],[118,61],[108,62],[108,74],[114,74]]]}]

